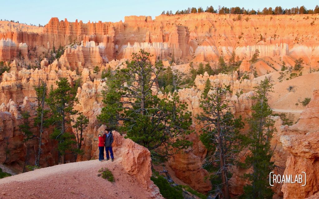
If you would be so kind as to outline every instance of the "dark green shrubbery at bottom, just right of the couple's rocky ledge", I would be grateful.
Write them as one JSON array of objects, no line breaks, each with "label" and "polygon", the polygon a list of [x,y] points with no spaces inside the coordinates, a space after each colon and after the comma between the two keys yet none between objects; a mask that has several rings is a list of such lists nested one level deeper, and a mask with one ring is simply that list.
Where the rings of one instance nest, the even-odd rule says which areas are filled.
[{"label": "dark green shrubbery at bottom, just right of the couple's rocky ledge", "polygon": [[180,186],[172,187],[168,181],[159,175],[156,177],[151,177],[151,180],[159,188],[160,194],[166,199],[183,199],[183,190]]}]

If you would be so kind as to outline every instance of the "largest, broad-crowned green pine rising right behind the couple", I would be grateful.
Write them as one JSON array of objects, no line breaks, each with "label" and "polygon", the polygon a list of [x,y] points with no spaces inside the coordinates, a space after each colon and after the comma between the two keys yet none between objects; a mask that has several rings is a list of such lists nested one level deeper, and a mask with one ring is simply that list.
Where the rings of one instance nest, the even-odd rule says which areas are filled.
[{"label": "largest, broad-crowned green pine rising right behind the couple", "polygon": [[105,106],[98,119],[110,128],[126,132],[128,138],[148,148],[153,158],[163,160],[174,153],[172,149],[177,152],[190,146],[185,135],[189,133],[191,114],[177,93],[170,100],[159,99],[152,93],[163,65],[161,61],[152,64],[149,57],[144,50],[133,53],[127,67],[115,71],[116,78],[107,82],[103,93]]}]

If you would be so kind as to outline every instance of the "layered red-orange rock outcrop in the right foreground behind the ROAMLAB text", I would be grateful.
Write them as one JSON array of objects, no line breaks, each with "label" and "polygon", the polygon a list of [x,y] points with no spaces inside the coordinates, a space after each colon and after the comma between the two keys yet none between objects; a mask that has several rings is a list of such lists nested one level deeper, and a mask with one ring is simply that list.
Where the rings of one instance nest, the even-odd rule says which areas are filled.
[{"label": "layered red-orange rock outcrop in the right foreground behind the ROAMLAB text", "polygon": [[[306,172],[307,184],[285,183],[282,186],[284,198],[306,198],[319,190],[319,127],[318,127],[319,90],[301,114],[297,124],[290,126],[295,135],[281,136],[283,148],[290,153],[284,174],[293,176]],[[315,198],[315,197],[312,197]]]}]

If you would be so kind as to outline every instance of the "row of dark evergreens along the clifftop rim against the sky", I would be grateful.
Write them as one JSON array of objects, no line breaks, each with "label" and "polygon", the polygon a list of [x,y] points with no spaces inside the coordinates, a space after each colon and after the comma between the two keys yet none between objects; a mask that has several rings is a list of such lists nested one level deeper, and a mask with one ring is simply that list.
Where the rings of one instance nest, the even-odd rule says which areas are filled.
[{"label": "row of dark evergreens along the clifftop rim against the sky", "polygon": [[[218,9],[214,9],[213,6],[207,6],[206,10],[202,7],[192,7],[185,10],[177,10],[175,15],[182,15],[182,14],[190,14],[190,13],[200,13],[200,12],[210,12],[210,13],[218,13],[218,14],[244,14],[244,15],[292,15],[292,14],[318,14],[319,13],[319,6],[316,5],[314,9],[306,9],[305,6],[300,7],[293,7],[290,9],[284,9],[281,6],[276,6],[274,9],[272,7],[264,8],[262,11],[260,9],[245,9],[240,7],[231,7],[227,8],[225,6],[218,7]],[[162,14],[166,15],[173,15],[172,11],[163,11]]]}]

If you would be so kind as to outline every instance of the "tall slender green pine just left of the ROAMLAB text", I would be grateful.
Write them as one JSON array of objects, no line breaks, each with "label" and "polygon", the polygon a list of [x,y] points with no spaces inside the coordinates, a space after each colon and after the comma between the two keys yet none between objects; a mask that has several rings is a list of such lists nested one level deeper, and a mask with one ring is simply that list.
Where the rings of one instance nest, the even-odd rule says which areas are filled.
[{"label": "tall slender green pine just left of the ROAMLAB text", "polygon": [[269,173],[274,169],[271,161],[272,150],[270,139],[274,131],[274,121],[271,119],[272,110],[268,105],[269,93],[272,92],[270,78],[265,78],[255,87],[256,103],[251,107],[252,117],[247,120],[249,132],[245,145],[251,153],[246,157],[245,165],[251,168],[251,174],[245,174],[251,185],[244,187],[245,198],[272,198],[273,191],[269,185]]}]

